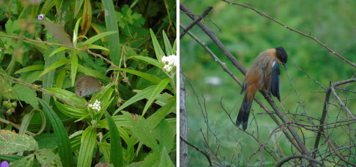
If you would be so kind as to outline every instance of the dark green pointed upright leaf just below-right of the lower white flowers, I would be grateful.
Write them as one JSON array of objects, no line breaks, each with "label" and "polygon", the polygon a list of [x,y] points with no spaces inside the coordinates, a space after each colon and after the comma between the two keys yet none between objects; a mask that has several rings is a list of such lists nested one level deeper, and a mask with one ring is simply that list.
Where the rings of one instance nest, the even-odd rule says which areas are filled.
[{"label": "dark green pointed upright leaf just below-right of the lower white flowers", "polygon": [[106,111],[106,109],[104,109],[104,114],[106,121],[108,121],[110,131],[110,163],[114,164],[115,167],[122,167],[124,165],[124,160],[122,157],[122,146],[119,130],[117,129],[114,120],[108,111]]}]

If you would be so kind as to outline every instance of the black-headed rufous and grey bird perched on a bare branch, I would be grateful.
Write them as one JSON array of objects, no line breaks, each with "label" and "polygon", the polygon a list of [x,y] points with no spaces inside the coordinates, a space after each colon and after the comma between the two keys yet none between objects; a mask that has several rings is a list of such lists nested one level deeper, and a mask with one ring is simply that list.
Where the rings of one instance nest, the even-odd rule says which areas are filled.
[{"label": "black-headed rufous and grey bird perched on a bare branch", "polygon": [[271,93],[277,97],[279,101],[279,83],[281,71],[279,64],[284,65],[287,69],[288,55],[283,47],[274,49],[267,49],[260,53],[255,60],[253,60],[251,68],[247,71],[244,84],[240,95],[245,92],[244,100],[240,108],[239,115],[237,115],[236,126],[242,123],[242,129],[246,130],[248,123],[248,115],[252,105],[253,98],[257,90],[266,90],[269,95]]}]

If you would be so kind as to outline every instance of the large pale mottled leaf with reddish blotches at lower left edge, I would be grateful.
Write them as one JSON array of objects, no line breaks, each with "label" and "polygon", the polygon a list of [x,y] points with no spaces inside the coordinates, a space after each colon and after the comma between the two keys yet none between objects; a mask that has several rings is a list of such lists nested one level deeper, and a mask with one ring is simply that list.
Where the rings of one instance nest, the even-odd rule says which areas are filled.
[{"label": "large pale mottled leaf with reddish blotches at lower left edge", "polygon": [[38,150],[38,143],[32,136],[19,135],[10,130],[0,130],[0,146],[1,155]]}]

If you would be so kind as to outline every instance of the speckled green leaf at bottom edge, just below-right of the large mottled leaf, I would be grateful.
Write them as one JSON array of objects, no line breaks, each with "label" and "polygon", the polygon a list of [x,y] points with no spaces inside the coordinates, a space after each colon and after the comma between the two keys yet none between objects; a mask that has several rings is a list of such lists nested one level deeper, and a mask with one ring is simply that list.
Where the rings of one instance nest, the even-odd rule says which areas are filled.
[{"label": "speckled green leaf at bottom edge, just below-right of the large mottled leaf", "polygon": [[61,158],[49,149],[38,150],[36,159],[42,166],[62,166]]}]

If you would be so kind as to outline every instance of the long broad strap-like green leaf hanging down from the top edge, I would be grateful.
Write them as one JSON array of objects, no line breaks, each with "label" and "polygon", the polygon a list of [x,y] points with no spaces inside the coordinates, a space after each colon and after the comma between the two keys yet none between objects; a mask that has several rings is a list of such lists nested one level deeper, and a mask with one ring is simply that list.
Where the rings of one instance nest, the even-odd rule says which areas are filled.
[{"label": "long broad strap-like green leaf hanging down from the top edge", "polygon": [[[105,11],[105,24],[107,31],[117,31],[118,33],[111,34],[108,36],[110,50],[110,60],[114,62],[115,65],[119,65],[121,50],[120,47],[120,37],[119,37],[119,26],[117,25],[117,18],[115,14],[114,2],[109,0],[102,0],[104,11]],[[107,11],[107,12],[106,12]]]}]

